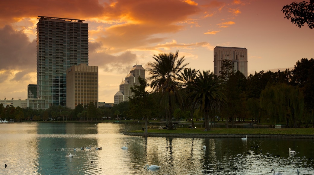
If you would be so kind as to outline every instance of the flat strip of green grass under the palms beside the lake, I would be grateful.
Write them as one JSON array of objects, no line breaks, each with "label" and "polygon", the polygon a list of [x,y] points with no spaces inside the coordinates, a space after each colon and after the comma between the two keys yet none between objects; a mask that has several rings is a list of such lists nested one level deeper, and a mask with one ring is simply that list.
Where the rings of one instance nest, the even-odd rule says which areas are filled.
[{"label": "flat strip of green grass under the palms beside the lake", "polygon": [[[143,132],[143,130],[128,131]],[[173,134],[282,134],[282,135],[314,135],[314,128],[178,128],[177,130],[149,129],[148,133],[173,133]]]}]

